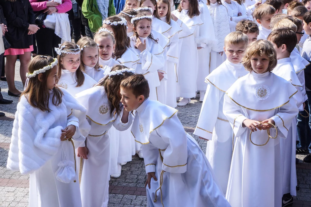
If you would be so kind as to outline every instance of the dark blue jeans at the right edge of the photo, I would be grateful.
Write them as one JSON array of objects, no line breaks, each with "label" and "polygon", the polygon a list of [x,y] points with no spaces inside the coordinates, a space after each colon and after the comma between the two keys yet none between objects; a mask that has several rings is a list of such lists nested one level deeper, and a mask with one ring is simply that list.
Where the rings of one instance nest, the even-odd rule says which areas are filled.
[{"label": "dark blue jeans at the right edge of the photo", "polygon": [[[311,111],[311,91],[306,91],[307,97],[308,97],[308,107],[306,106],[305,109],[308,111]],[[307,103],[306,102],[306,103]],[[303,116],[307,116],[307,113],[300,112]],[[308,118],[302,117],[300,114],[297,116],[298,122],[297,122],[297,132],[298,132],[298,139],[299,143],[297,145],[298,148],[302,150],[309,149],[309,152],[311,153],[311,117]],[[309,123],[308,123],[309,121]]]}]

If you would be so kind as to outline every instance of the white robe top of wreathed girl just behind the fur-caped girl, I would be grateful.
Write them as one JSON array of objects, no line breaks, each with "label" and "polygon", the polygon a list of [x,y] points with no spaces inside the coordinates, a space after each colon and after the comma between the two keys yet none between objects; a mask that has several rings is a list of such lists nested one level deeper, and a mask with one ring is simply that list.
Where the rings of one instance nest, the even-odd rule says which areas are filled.
[{"label": "white robe top of wreathed girl just behind the fur-caped girl", "polygon": [[66,69],[62,69],[62,75],[60,76],[57,85],[66,89],[73,97],[75,97],[77,93],[89,89],[97,83],[93,78],[88,76],[86,73],[83,73],[83,75],[84,75],[83,84],[80,87],[76,87],[77,86],[76,72],[72,73]]}]

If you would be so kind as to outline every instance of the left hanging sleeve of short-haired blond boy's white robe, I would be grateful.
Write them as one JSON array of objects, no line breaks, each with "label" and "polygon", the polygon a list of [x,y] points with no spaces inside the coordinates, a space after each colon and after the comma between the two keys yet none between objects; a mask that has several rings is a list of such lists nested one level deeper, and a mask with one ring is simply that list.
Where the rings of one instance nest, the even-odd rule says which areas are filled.
[{"label": "left hanging sleeve of short-haired blond boy's white robe", "polygon": [[219,102],[223,94],[224,92],[215,86],[210,83],[207,84],[199,120],[193,134],[212,140],[212,133],[218,117]]}]

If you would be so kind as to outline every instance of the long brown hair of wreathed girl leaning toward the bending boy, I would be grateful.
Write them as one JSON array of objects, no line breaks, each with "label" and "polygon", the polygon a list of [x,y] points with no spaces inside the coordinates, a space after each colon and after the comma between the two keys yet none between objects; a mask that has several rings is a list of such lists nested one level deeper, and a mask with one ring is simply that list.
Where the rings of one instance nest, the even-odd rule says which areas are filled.
[{"label": "long brown hair of wreathed girl leaning toward the bending boy", "polygon": [[[111,71],[118,71],[128,68],[123,65],[114,65],[111,68]],[[104,86],[105,92],[107,94],[107,98],[109,103],[111,104],[110,107],[110,116],[116,115],[119,116],[121,113],[120,109],[120,83],[123,79],[127,78],[128,76],[132,76],[133,73],[131,72],[123,72],[122,75],[114,75],[114,76],[106,76],[102,81],[100,81],[97,85]],[[115,109],[115,112],[114,112]]]}]

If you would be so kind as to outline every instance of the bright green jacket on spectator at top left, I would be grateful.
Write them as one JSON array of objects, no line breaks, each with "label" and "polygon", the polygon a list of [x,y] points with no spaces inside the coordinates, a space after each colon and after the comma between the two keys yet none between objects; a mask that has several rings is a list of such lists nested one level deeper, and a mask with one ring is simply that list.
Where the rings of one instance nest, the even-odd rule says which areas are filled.
[{"label": "bright green jacket on spectator at top left", "polygon": [[[103,18],[97,6],[96,0],[84,0],[82,3],[83,16],[88,19],[92,32],[96,32],[103,25]],[[109,0],[108,16],[116,15],[114,1]]]}]

